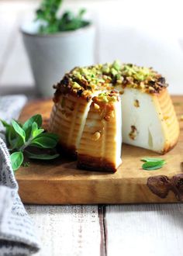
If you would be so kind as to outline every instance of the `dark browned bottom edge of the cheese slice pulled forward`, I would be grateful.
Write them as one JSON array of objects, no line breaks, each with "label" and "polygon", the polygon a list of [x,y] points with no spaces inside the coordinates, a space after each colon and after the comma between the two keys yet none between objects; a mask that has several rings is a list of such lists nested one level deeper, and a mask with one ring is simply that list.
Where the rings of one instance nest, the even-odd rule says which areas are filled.
[{"label": "dark browned bottom edge of the cheese slice pulled forward", "polygon": [[85,154],[78,155],[78,168],[88,171],[109,171],[116,172],[114,163],[109,162],[108,159],[101,157],[91,157]]}]

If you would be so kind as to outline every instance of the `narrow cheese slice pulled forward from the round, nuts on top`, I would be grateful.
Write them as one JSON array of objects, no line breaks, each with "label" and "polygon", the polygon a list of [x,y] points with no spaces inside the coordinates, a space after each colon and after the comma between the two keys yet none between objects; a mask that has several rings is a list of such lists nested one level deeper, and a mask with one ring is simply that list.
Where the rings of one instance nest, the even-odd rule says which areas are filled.
[{"label": "narrow cheese slice pulled forward from the round, nuts on top", "polygon": [[92,99],[78,147],[78,168],[116,171],[122,162],[121,113],[119,94],[115,91]]}]

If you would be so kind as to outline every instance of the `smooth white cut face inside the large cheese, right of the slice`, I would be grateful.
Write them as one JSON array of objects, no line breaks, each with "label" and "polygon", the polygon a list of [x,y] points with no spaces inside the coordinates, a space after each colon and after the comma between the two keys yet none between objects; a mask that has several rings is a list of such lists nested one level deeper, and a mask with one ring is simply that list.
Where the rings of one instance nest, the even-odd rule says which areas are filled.
[{"label": "smooth white cut face inside the large cheese, right of the slice", "polygon": [[[135,106],[138,102],[139,106]],[[125,88],[122,95],[123,142],[137,147],[161,152],[165,136],[153,97],[134,88]],[[132,126],[136,127],[134,139],[129,136]]]}]

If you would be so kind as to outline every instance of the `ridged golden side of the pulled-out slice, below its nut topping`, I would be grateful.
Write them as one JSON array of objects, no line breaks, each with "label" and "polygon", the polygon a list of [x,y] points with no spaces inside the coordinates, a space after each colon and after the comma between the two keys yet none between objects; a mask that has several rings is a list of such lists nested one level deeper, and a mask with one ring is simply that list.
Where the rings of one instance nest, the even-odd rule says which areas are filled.
[{"label": "ridged golden side of the pulled-out slice, below its nut topping", "polygon": [[[119,102],[116,102],[115,105],[112,116],[109,120],[105,120],[103,118],[105,109],[95,109],[91,104],[78,147],[78,161],[82,156],[84,165],[91,164],[88,162],[89,157],[96,161],[96,169],[107,164],[117,168],[121,164],[121,105]],[[96,140],[97,135],[99,137]],[[94,163],[92,162],[91,165],[94,166]]]}]

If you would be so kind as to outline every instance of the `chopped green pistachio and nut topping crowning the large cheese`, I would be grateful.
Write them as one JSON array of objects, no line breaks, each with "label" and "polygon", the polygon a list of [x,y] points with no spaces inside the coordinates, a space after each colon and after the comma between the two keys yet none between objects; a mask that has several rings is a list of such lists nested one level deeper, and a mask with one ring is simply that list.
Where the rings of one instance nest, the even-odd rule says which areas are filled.
[{"label": "chopped green pistachio and nut topping crowning the large cheese", "polygon": [[[167,87],[165,79],[152,67],[139,67],[135,64],[96,64],[90,67],[75,67],[54,85],[57,94],[73,92],[78,97],[90,100],[96,91],[111,91],[116,88],[136,88],[142,92],[158,93]],[[122,91],[123,92],[123,91]],[[105,98],[105,97],[104,97]]]}]

